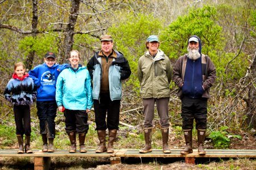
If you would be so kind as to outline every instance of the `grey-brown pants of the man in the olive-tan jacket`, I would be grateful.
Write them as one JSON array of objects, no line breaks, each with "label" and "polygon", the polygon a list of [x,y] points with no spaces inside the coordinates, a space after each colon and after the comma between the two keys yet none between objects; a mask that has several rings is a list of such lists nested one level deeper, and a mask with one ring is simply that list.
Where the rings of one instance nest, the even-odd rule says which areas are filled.
[{"label": "grey-brown pants of the man in the olive-tan jacket", "polygon": [[149,98],[143,99],[143,107],[144,107],[144,128],[152,128],[152,121],[154,119],[155,114],[155,103],[156,109],[158,111],[158,115],[160,117],[160,125],[161,128],[168,128],[170,126],[169,122],[169,111],[168,111],[168,103],[169,97],[164,97],[160,99]]}]

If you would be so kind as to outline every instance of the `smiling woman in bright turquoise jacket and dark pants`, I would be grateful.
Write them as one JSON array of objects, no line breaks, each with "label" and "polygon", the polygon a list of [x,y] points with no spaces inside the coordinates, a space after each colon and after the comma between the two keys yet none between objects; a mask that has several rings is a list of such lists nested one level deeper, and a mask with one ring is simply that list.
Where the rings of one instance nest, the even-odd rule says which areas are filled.
[{"label": "smiling woman in bright turquoise jacket and dark pants", "polygon": [[70,153],[76,152],[76,133],[79,134],[80,152],[85,153],[85,136],[88,132],[88,112],[93,105],[89,71],[79,64],[77,50],[70,52],[71,64],[64,69],[56,83],[56,102],[59,111],[64,110],[65,130],[71,141]]}]

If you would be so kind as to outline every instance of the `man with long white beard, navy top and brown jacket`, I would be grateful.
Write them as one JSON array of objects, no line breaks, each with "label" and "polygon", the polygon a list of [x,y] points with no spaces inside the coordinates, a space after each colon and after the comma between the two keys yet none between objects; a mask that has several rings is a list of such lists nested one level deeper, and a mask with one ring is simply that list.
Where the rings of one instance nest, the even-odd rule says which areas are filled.
[{"label": "man with long white beard, navy top and brown jacket", "polygon": [[182,129],[186,146],[180,154],[193,152],[192,129],[196,120],[199,155],[205,155],[204,138],[207,129],[207,100],[210,87],[216,80],[216,69],[208,56],[201,53],[201,40],[193,35],[188,39],[188,54],[177,59],[172,80],[179,87]]}]

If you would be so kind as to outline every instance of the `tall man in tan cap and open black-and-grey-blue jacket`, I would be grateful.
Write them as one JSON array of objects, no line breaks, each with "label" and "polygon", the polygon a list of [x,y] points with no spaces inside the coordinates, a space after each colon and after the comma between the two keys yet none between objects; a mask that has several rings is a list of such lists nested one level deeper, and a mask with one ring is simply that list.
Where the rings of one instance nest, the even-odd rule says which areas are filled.
[{"label": "tall man in tan cap and open black-and-grey-blue jacket", "polygon": [[[113,153],[113,143],[119,129],[121,80],[129,78],[131,70],[123,54],[113,50],[112,36],[104,35],[100,39],[101,51],[95,53],[87,65],[93,80],[95,122],[100,140],[96,153]],[[106,114],[108,114],[107,121]],[[107,128],[109,130],[108,147],[106,147]]]}]

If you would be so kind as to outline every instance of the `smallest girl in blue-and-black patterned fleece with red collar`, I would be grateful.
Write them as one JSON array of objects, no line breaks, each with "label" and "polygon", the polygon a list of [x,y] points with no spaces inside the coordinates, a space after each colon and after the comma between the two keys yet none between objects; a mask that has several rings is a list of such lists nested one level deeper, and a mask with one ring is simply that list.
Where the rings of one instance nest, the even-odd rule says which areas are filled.
[{"label": "smallest girl in blue-and-black patterned fleece with red collar", "polygon": [[18,138],[19,150],[18,154],[23,154],[23,135],[25,134],[25,152],[31,154],[30,134],[31,134],[31,118],[30,105],[36,97],[36,88],[33,80],[25,73],[25,65],[18,62],[14,65],[13,78],[6,86],[4,96],[5,99],[13,104],[14,118],[16,124],[16,136]]}]

